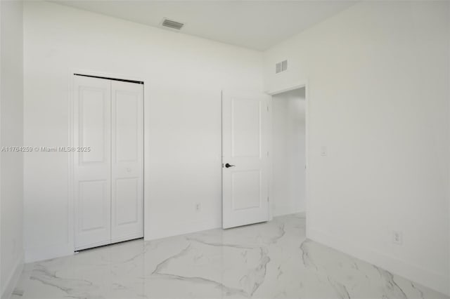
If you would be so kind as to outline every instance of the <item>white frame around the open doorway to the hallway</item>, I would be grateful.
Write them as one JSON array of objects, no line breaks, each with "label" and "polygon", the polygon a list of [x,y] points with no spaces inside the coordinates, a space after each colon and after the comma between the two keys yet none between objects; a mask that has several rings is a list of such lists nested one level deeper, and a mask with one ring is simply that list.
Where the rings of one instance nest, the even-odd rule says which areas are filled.
[{"label": "white frame around the open doorway to the hallway", "polygon": [[[294,91],[295,89],[299,89],[299,88],[304,88],[304,117],[305,117],[305,128],[304,128],[304,141],[305,141],[305,148],[304,148],[304,154],[305,154],[305,178],[306,181],[304,182],[304,186],[305,186],[305,190],[304,190],[304,197],[305,197],[305,215],[306,215],[306,234],[307,237],[309,235],[309,211],[310,211],[310,206],[311,206],[311,202],[310,202],[310,197],[309,197],[309,191],[310,191],[310,187],[309,187],[309,84],[308,84],[308,79],[304,79],[301,81],[297,81],[295,84],[292,84],[290,86],[287,86],[285,88],[279,88],[279,89],[273,89],[270,91],[266,91],[267,94],[269,95],[278,95],[280,93],[285,93],[286,91]],[[272,109],[271,109],[271,117],[270,117],[270,129],[272,129]],[[272,135],[272,134],[270,134]],[[272,146],[272,140],[270,140],[270,146]],[[272,152],[273,149],[270,149],[270,152]],[[273,157],[271,155],[271,157]],[[270,175],[269,175],[269,219],[273,218],[273,209],[272,204],[273,204],[273,200],[274,200],[274,187],[273,187],[273,182],[274,182],[274,172],[273,172],[273,164],[272,164],[273,160],[270,159],[269,163],[270,163]]]}]

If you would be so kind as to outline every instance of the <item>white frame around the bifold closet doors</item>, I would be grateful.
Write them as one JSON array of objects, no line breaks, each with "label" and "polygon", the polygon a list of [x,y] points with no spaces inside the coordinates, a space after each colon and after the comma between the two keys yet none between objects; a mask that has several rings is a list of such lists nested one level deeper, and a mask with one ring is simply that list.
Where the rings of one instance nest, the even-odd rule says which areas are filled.
[{"label": "white frame around the bifold closet doors", "polygon": [[[141,81],[143,82],[143,238],[148,239],[146,237],[146,202],[149,202],[149,182],[148,178],[150,177],[150,152],[148,151],[150,147],[150,133],[149,130],[146,130],[149,126],[150,121],[150,79],[145,76],[136,76],[130,74],[113,74],[107,72],[95,72],[86,69],[70,69],[68,74],[69,81],[69,96],[68,96],[68,146],[73,147],[75,145],[74,142],[74,121],[75,121],[75,74],[82,74],[86,76],[92,77],[105,77],[110,79],[122,79],[122,80],[130,80],[130,81]],[[63,146],[63,145],[61,145]],[[68,154],[68,250],[70,253],[68,255],[75,253],[75,190],[74,190],[74,179],[75,179],[75,169],[74,169],[74,153],[70,152]]]}]

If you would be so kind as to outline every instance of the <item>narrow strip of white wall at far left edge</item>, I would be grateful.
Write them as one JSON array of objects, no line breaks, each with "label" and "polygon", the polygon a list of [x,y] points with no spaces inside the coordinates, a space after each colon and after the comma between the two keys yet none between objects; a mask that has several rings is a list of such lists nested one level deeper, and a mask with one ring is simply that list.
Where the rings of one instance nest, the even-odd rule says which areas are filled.
[{"label": "narrow strip of white wall at far left edge", "polygon": [[[1,1],[0,146],[23,145],[23,4]],[[23,153],[1,152],[1,298],[23,267]]]}]

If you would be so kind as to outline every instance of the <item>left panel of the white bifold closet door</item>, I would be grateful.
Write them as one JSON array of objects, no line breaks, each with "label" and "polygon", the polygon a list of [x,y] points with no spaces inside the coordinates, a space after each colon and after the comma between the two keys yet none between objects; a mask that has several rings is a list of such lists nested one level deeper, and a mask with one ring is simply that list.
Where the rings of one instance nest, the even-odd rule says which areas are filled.
[{"label": "left panel of the white bifold closet door", "polygon": [[75,249],[111,240],[111,82],[75,76]]}]

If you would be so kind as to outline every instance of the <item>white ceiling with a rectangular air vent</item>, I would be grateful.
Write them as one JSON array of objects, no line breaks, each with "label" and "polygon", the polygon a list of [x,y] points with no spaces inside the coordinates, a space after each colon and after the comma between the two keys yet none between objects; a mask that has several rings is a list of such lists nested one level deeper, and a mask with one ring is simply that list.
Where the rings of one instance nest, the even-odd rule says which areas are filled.
[{"label": "white ceiling with a rectangular air vent", "polygon": [[162,18],[186,25],[181,32],[264,51],[335,15],[354,1],[135,1],[58,0],[59,4],[161,27]]}]

